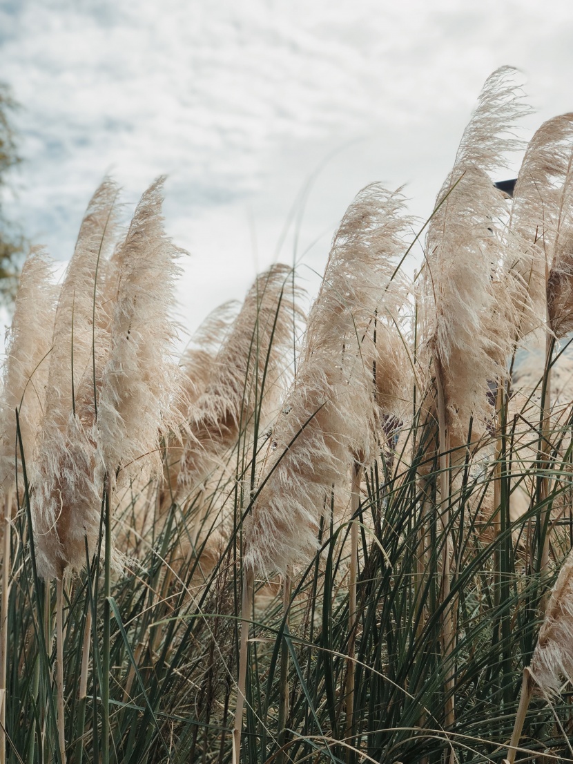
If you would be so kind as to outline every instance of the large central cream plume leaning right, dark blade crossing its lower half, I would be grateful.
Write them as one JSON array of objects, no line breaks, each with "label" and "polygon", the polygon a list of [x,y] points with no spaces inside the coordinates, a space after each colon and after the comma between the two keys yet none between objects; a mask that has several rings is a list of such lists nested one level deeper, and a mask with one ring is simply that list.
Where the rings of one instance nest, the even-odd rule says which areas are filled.
[{"label": "large central cream plume leaning right, dark blade crossing its lower half", "polygon": [[409,223],[400,192],[377,184],[363,189],[342,219],[248,520],[248,569],[284,575],[308,559],[332,487],[354,460],[371,456],[373,360],[384,358],[384,346],[374,345],[374,323],[399,320],[406,295],[393,276]]}]

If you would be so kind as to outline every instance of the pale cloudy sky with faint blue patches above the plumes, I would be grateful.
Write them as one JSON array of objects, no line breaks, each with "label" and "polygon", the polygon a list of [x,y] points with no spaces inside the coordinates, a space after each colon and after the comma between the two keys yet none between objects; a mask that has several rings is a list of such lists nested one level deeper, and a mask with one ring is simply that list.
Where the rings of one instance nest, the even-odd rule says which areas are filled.
[{"label": "pale cloudy sky with faint blue patches above the plumes", "polygon": [[[6,212],[65,261],[105,173],[131,206],[166,173],[192,330],[295,246],[316,289],[366,183],[406,183],[429,215],[497,66],[523,71],[525,137],[573,110],[571,40],[571,5],[541,0],[0,0],[26,160]],[[313,176],[298,237],[282,236]]]}]

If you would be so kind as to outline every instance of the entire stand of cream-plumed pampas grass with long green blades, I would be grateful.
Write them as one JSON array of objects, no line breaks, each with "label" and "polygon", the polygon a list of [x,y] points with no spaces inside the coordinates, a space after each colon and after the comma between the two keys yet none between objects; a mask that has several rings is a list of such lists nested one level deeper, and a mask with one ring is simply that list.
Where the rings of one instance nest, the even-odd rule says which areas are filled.
[{"label": "entire stand of cream-plumed pampas grass with long green blades", "polygon": [[102,183],[61,286],[31,254],[0,400],[0,764],[470,764],[524,729],[562,757],[573,117],[512,201],[525,112],[494,72],[419,278],[403,190],[362,189],[306,326],[274,264],[177,358],[162,179],[126,230]]}]

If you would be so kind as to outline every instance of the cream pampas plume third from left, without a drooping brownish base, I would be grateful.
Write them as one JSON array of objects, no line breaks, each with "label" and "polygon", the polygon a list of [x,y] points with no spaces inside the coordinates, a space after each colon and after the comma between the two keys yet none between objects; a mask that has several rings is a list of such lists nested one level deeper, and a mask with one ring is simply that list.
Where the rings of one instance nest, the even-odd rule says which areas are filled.
[{"label": "cream pampas plume third from left, without a drooping brownish base", "polygon": [[147,471],[161,473],[161,439],[176,430],[181,373],[170,309],[181,250],[161,216],[163,178],[141,197],[125,241],[115,254],[118,296],[112,347],[103,371],[98,433],[102,461],[113,484]]}]

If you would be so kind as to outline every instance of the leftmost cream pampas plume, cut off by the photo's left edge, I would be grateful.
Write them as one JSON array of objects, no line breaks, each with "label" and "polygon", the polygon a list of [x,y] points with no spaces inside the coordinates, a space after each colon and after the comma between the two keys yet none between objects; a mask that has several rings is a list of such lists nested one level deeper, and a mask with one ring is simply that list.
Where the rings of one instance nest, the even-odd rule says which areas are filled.
[{"label": "leftmost cream pampas plume, cut off by the photo's left edge", "polygon": [[15,483],[15,464],[21,468],[16,442],[18,409],[22,447],[31,464],[44,416],[44,400],[57,286],[52,281],[53,261],[44,250],[34,248],[22,267],[14,317],[8,332],[4,384],[0,397],[0,486],[8,493]]}]

